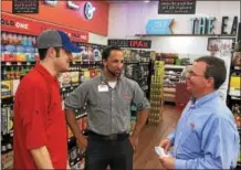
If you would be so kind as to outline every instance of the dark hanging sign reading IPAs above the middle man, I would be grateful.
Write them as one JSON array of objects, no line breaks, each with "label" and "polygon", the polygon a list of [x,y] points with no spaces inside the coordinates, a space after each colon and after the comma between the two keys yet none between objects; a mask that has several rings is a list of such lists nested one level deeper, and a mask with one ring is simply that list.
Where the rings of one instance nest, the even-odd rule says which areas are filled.
[{"label": "dark hanging sign reading IPAs above the middle man", "polygon": [[123,40],[123,39],[109,39],[108,45],[117,45],[119,47],[132,47],[132,49],[150,49],[150,40]]}]

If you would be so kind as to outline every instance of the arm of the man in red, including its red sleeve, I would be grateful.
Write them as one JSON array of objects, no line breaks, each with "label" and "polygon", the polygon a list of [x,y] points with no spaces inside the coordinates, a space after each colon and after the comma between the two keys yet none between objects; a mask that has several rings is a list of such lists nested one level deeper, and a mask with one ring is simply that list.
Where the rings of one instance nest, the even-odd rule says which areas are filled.
[{"label": "arm of the man in red, including its red sleeve", "polygon": [[[21,95],[24,100],[20,100],[22,111],[22,123],[25,131],[25,147],[31,152],[34,163],[39,169],[53,169],[53,163],[46,148],[48,138],[45,131],[45,120],[48,108],[44,103],[46,96],[39,86],[30,86]],[[20,96],[22,98],[22,96]]]}]

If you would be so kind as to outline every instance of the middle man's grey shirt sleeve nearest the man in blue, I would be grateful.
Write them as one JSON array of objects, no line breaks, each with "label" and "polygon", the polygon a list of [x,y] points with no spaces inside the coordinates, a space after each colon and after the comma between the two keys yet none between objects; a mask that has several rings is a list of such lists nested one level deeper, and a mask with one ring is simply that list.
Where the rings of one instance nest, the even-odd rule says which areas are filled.
[{"label": "middle man's grey shirt sleeve nearest the man in blue", "polygon": [[150,109],[150,104],[148,99],[145,97],[143,89],[136,82],[134,82],[133,103],[136,105],[137,110]]}]

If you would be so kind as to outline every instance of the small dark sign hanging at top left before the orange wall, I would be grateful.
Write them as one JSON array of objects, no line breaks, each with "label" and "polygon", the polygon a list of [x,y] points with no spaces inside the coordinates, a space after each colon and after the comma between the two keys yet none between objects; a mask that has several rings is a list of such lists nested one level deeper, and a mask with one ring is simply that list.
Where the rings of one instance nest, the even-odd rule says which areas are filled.
[{"label": "small dark sign hanging at top left before the orange wall", "polygon": [[39,13],[39,0],[13,0],[12,13]]}]

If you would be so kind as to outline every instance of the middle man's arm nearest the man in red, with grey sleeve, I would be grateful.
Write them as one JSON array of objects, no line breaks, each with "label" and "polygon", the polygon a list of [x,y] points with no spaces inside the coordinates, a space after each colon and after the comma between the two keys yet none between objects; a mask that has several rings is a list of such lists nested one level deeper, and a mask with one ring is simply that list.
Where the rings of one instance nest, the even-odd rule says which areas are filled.
[{"label": "middle man's arm nearest the man in red, with grey sleeve", "polygon": [[80,109],[84,107],[87,94],[88,84],[84,82],[64,100],[65,118],[67,125],[70,126],[74,137],[77,139],[78,147],[81,147],[82,150],[85,150],[87,140],[81,132],[80,126],[76,121],[74,109]]}]

